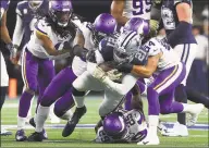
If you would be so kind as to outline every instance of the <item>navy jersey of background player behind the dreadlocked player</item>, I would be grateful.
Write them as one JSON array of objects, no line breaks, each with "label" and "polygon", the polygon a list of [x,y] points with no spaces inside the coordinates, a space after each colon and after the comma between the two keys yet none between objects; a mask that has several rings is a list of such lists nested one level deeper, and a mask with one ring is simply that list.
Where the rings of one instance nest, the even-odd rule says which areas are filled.
[{"label": "navy jersey of background player behind the dreadlocked player", "polygon": [[28,1],[19,2],[16,7],[16,14],[22,18],[23,27],[25,29],[23,45],[29,41],[32,32],[34,30],[34,24],[37,22],[37,17],[47,14],[48,1],[44,0],[44,3],[35,12],[29,5]]}]

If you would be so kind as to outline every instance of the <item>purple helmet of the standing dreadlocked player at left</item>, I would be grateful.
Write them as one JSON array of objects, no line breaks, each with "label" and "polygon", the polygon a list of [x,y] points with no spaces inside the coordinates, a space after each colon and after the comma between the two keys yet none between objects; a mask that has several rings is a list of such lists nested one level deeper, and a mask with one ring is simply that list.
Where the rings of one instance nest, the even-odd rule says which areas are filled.
[{"label": "purple helmet of the standing dreadlocked player at left", "polygon": [[49,15],[54,23],[61,27],[69,25],[73,7],[71,0],[52,0],[49,1]]}]

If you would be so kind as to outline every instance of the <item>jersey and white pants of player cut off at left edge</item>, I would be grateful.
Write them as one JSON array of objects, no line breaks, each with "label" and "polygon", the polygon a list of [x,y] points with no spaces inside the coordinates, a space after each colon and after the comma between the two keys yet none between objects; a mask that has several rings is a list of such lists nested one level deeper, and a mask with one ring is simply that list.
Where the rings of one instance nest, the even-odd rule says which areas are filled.
[{"label": "jersey and white pants of player cut off at left edge", "polygon": [[[4,12],[8,10],[9,8],[9,3],[10,1],[9,0],[1,0],[0,1],[0,21],[4,14]],[[1,27],[1,26],[0,26]],[[0,51],[1,52],[1,51]],[[7,66],[5,66],[5,61],[4,61],[4,58],[3,58],[3,54],[1,53],[1,87],[3,86],[8,86],[9,85],[9,75],[8,75],[8,71],[7,71]]]}]

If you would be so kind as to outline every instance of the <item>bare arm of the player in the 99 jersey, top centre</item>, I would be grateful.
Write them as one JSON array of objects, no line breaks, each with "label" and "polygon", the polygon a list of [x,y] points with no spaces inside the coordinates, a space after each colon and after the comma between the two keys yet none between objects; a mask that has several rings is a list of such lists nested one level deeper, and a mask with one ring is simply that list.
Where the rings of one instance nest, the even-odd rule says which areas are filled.
[{"label": "bare arm of the player in the 99 jersey, top centre", "polygon": [[123,16],[124,3],[125,0],[113,0],[111,4],[111,14],[121,25],[125,25],[125,23],[128,21],[127,17]]}]

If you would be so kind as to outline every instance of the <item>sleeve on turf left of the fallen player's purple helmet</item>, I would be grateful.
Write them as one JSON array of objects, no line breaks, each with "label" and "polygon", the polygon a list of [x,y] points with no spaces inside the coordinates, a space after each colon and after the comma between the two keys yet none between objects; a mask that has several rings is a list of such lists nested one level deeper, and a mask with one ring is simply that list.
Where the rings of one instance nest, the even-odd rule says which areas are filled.
[{"label": "sleeve on turf left of the fallen player's purple helmet", "polygon": [[113,143],[113,139],[106,134],[103,131],[103,127],[101,126],[98,132],[95,139],[96,143]]}]

